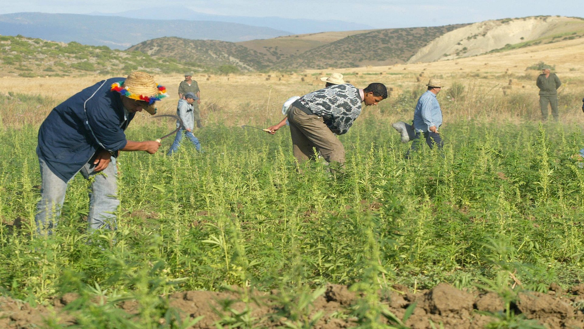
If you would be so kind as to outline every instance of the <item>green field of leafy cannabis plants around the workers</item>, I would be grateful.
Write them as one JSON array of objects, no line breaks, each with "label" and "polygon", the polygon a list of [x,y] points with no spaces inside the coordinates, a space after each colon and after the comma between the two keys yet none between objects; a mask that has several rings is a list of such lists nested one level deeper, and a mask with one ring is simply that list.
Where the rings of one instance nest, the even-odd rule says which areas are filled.
[{"label": "green field of leafy cannabis plants around the workers", "polygon": [[[211,122],[195,133],[204,153],[183,143],[167,157],[171,141],[165,140],[156,155],[121,155],[117,231],[86,233],[89,184],[78,175],[48,238],[33,234],[40,121],[22,124],[18,115],[47,108],[42,120],[55,100],[0,98],[12,112],[0,121],[5,327],[581,324],[584,169],[571,156],[584,136],[575,124],[524,119],[520,97],[489,103],[517,111],[514,120],[497,119],[496,112],[468,118],[467,103],[445,104],[452,118],[463,115],[446,121],[444,152],[425,147],[407,160],[409,145],[399,142],[391,123],[411,115],[415,92],[381,102],[340,136],[347,164],[336,174],[322,162],[297,165],[286,128],[271,136]],[[578,111],[576,101],[566,101],[564,111]],[[144,117],[127,135],[154,139],[169,127]],[[466,313],[447,315],[436,300],[423,309],[444,283],[451,300],[470,300]],[[549,320],[522,309],[522,294],[544,298],[550,286],[558,298],[571,294],[562,301],[569,305],[565,314]],[[343,302],[342,293],[352,297]],[[484,293],[501,307],[477,307],[472,296]],[[192,309],[193,303],[208,308],[208,301],[215,306],[199,314],[176,307],[177,300]],[[338,307],[319,309],[321,302]],[[462,318],[467,324],[456,322]]]}]

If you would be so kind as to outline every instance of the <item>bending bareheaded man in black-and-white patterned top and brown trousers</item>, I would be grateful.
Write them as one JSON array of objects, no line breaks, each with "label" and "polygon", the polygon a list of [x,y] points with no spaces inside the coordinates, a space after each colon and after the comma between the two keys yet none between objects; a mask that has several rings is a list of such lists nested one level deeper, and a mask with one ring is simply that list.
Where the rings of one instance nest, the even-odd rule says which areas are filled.
[{"label": "bending bareheaded man in black-and-white patterned top and brown trousers", "polygon": [[345,163],[345,148],[334,135],[349,131],[361,113],[361,102],[377,105],[387,98],[387,88],[372,83],[365,89],[351,84],[332,85],[295,101],[288,111],[294,157],[298,162],[314,159],[317,149],[326,162]]}]

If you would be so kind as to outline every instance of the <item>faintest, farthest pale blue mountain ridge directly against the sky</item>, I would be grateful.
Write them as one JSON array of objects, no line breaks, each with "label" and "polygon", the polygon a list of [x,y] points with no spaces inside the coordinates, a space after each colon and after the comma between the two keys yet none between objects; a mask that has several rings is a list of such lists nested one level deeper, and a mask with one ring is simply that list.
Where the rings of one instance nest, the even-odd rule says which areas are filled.
[{"label": "faintest, farthest pale blue mountain ridge directly against the sky", "polygon": [[[192,11],[188,8],[176,6],[145,8],[134,11],[124,11],[117,13],[97,12],[91,13],[90,15],[121,16],[139,19],[210,20],[213,22],[230,22],[253,26],[265,26],[267,28],[272,28],[276,30],[290,31],[293,34],[319,33],[324,31],[331,32],[373,29],[371,26],[366,24],[345,22],[342,20],[314,20],[314,19],[294,19],[285,17],[249,17],[249,16],[213,15],[208,13]],[[220,40],[232,41],[225,39]]]}]

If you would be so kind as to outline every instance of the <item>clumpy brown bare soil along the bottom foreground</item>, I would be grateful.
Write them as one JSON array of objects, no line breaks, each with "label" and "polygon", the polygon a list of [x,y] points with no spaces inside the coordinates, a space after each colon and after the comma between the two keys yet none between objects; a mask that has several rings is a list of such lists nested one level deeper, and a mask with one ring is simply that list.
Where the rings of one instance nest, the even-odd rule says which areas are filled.
[{"label": "clumpy brown bare soil along the bottom foreground", "polygon": [[[446,283],[416,293],[405,286],[394,285],[390,292],[380,293],[380,296],[380,303],[398,318],[404,316],[408,306],[416,303],[412,316],[405,323],[412,329],[431,329],[430,320],[436,327],[442,323],[443,328],[484,328],[486,324],[496,321],[495,317],[488,315],[489,312],[498,313],[505,309],[505,303],[495,293],[468,293]],[[0,297],[0,328],[42,327],[45,318],[55,317],[65,326],[74,324],[74,314],[68,314],[62,309],[75,298],[75,294],[65,294],[55,298],[49,305],[31,307],[22,301]],[[237,320],[237,314],[246,310],[257,327],[276,328],[294,320],[294,311],[290,310],[289,304],[284,307],[279,303],[281,294],[276,290],[251,294],[244,294],[237,289],[228,292],[187,291],[173,293],[168,299],[170,306],[179,310],[185,318],[203,316],[193,328],[216,328],[215,323],[218,321],[227,318]],[[351,307],[354,308],[360,299],[359,294],[346,286],[329,285],[324,294],[312,301],[310,314],[305,318],[310,319],[322,312],[314,328],[354,327],[357,318],[352,316]],[[515,314],[523,314],[547,328],[555,329],[584,328],[583,305],[584,285],[568,290],[551,285],[547,293],[519,293],[517,303],[512,303],[511,307]],[[123,301],[119,307],[129,314],[138,312],[138,303],[133,300]],[[296,316],[298,318],[298,314]]]}]

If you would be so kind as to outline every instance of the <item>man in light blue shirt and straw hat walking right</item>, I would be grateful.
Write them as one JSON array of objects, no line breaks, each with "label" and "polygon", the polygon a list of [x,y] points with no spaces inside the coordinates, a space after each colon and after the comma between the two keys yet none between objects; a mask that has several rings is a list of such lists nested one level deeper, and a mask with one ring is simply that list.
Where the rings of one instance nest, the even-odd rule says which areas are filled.
[{"label": "man in light blue shirt and straw hat walking right", "polygon": [[436,99],[436,95],[442,90],[442,83],[440,80],[432,78],[426,85],[428,90],[420,96],[418,104],[416,104],[416,111],[413,112],[413,128],[416,131],[416,136],[413,138],[408,155],[411,151],[418,149],[422,135],[430,149],[434,148],[434,145],[439,149],[442,149],[443,146],[442,138],[438,133],[438,128],[442,125],[442,110]]}]

